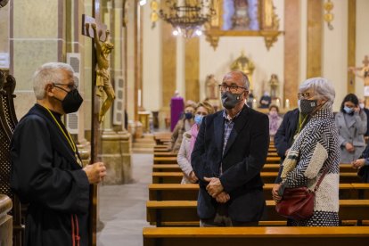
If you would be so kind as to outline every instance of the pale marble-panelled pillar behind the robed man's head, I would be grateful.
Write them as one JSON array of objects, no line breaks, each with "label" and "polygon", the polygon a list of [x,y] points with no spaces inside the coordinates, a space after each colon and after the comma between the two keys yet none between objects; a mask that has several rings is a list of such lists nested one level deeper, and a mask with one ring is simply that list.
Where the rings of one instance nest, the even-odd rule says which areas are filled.
[{"label": "pale marble-panelled pillar behind the robed man's head", "polygon": [[[47,61],[65,61],[65,1],[10,1],[11,74],[17,79],[14,98],[20,119],[36,102],[29,79]],[[47,23],[47,25],[45,25]]]}]

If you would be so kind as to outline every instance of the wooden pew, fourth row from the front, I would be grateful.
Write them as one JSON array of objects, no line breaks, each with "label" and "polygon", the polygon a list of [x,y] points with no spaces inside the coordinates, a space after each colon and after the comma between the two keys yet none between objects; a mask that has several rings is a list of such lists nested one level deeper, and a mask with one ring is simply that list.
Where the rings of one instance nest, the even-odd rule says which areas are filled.
[{"label": "wooden pew, fourth row from the front", "polygon": [[[278,172],[261,172],[260,176],[265,184],[275,183]],[[182,172],[153,172],[152,184],[179,184],[181,183]],[[360,183],[361,180],[357,173],[340,173],[340,183]]]}]

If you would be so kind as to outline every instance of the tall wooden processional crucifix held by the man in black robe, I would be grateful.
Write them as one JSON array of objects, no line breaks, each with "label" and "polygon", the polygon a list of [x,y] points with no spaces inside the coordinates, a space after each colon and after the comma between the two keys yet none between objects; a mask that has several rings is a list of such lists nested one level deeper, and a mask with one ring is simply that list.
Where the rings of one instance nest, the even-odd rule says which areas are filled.
[{"label": "tall wooden processional crucifix held by the man in black robe", "polygon": [[[101,146],[101,141],[99,141],[99,128],[100,123],[103,120],[104,113],[111,107],[111,103],[115,98],[114,90],[110,84],[105,83],[106,81],[110,83],[110,75],[108,72],[110,62],[107,59],[107,55],[111,53],[113,45],[109,43],[108,36],[109,31],[107,26],[100,22],[100,0],[93,1],[93,17],[83,15],[82,16],[82,35],[86,37],[91,37],[94,40],[94,45],[92,45],[92,87],[94,88],[92,94],[92,120],[91,120],[91,161],[94,163],[98,161],[99,146]],[[102,51],[103,43],[103,51]],[[103,52],[103,53],[102,53]],[[98,57],[98,55],[103,55],[103,57]],[[96,70],[94,70],[96,68]],[[99,84],[96,78],[102,78],[102,84]],[[97,85],[96,85],[97,84]],[[102,103],[102,108],[100,108],[100,100],[97,97],[101,95],[104,91],[108,98]],[[90,240],[89,244],[92,246],[96,245],[96,227],[98,223],[97,217],[97,185],[92,184],[90,188]]]}]

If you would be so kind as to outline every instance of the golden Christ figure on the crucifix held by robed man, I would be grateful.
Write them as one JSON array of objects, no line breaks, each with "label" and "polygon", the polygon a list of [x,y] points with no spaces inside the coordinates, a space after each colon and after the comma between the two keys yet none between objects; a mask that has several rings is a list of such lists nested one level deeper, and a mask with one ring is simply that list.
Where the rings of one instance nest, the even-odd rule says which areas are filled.
[{"label": "golden Christ figure on the crucifix held by robed man", "polygon": [[[88,24],[86,24],[88,25]],[[105,113],[111,108],[111,104],[115,99],[114,89],[111,86],[111,75],[109,73],[110,61],[109,54],[111,53],[114,45],[108,41],[109,30],[105,31],[105,40],[103,42],[100,41],[101,33],[97,34],[96,24],[91,24],[91,27],[94,30],[94,45],[96,48],[96,95],[102,97],[103,92],[106,94],[106,99],[102,102],[102,107],[99,112],[99,122],[102,122]],[[88,27],[86,27],[88,28]]]}]

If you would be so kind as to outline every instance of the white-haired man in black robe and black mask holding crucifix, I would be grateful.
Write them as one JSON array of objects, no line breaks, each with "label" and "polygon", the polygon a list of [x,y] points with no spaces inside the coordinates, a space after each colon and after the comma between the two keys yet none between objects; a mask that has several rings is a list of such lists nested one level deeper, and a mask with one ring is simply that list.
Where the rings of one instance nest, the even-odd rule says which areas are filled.
[{"label": "white-haired man in black robe and black mask holding crucifix", "polygon": [[24,245],[88,245],[89,186],[106,175],[102,162],[82,168],[61,116],[83,99],[70,65],[45,63],[33,76],[37,103],[15,127],[11,185],[29,203]]}]

